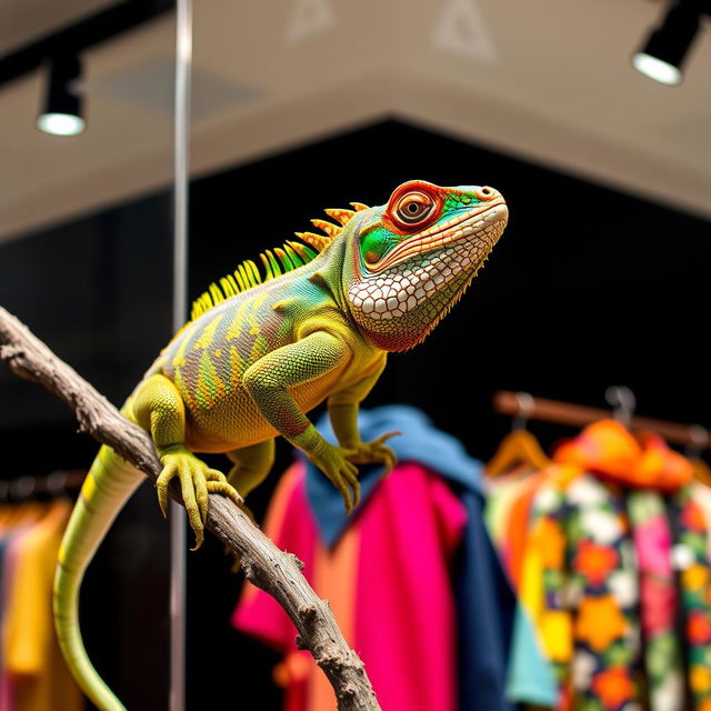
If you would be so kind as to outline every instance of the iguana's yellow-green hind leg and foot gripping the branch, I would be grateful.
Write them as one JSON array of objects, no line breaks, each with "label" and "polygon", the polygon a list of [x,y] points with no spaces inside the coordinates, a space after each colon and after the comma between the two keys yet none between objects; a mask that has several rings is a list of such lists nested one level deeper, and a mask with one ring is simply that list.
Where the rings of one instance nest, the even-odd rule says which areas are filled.
[{"label": "iguana's yellow-green hind leg and foot gripping the branch", "polygon": [[176,385],[164,375],[147,378],[136,392],[133,417],[156,444],[163,470],[156,482],[158,502],[168,511],[168,485],[180,480],[190,527],[196,534],[197,549],[202,544],[202,530],[208,517],[208,494],[221,493],[242,503],[239,493],[227,483],[224,474],[211,469],[186,447],[186,407]]}]

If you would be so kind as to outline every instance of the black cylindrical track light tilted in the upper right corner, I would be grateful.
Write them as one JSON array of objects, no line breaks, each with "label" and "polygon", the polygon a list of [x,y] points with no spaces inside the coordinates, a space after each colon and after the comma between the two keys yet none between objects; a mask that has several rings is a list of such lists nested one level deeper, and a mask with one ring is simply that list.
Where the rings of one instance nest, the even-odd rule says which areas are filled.
[{"label": "black cylindrical track light tilted in the upper right corner", "polygon": [[632,56],[634,69],[662,84],[678,84],[682,79],[681,66],[699,32],[703,12],[701,0],[675,0],[661,27]]}]

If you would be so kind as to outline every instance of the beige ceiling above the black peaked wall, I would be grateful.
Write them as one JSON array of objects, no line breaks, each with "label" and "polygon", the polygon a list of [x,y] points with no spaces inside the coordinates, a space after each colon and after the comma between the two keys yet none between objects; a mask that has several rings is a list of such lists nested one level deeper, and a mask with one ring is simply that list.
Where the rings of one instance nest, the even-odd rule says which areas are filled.
[{"label": "beige ceiling above the black peaked wall", "polygon": [[[106,6],[7,1],[0,52]],[[708,28],[680,87],[629,66],[662,10],[650,0],[194,0],[192,173],[397,117],[711,218]],[[79,137],[34,128],[39,71],[0,87],[0,239],[170,184],[173,42],[164,14],[88,50]]]}]

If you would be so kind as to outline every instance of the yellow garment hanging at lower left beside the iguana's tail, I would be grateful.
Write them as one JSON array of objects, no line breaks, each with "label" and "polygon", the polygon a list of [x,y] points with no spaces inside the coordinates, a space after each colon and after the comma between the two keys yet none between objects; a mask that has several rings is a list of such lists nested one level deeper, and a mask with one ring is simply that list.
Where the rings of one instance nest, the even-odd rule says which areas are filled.
[{"label": "yellow garment hanging at lower left beside the iguana's tail", "polygon": [[54,634],[52,582],[71,503],[57,501],[21,541],[6,617],[6,670],[16,711],[81,711],[83,697]]}]

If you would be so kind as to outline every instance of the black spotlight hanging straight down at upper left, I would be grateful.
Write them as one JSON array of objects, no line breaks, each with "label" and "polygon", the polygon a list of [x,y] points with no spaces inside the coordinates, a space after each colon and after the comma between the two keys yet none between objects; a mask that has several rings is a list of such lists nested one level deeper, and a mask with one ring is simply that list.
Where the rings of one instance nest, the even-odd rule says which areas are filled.
[{"label": "black spotlight hanging straight down at upper left", "polygon": [[77,136],[86,128],[77,81],[81,62],[74,54],[54,57],[49,63],[47,98],[37,128],[52,136]]}]

